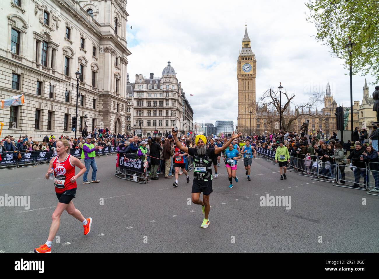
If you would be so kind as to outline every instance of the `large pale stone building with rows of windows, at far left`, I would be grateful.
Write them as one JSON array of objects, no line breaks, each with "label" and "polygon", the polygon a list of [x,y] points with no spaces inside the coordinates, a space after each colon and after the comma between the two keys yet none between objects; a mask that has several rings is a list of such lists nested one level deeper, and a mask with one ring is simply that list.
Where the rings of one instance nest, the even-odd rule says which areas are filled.
[{"label": "large pale stone building with rows of windows, at far left", "polygon": [[[126,0],[12,0],[0,21],[0,98],[24,94],[23,106],[0,110],[2,134],[74,136],[75,72],[79,85],[77,133],[127,126]],[[129,128],[129,129],[128,129]]]}]

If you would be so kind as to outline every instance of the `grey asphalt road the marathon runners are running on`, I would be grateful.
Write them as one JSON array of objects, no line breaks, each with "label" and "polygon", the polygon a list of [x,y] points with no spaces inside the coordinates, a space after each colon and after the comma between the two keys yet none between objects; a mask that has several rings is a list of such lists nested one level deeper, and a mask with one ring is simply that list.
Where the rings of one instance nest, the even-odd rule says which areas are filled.
[{"label": "grey asphalt road the marathon runners are running on", "polygon": [[[114,176],[116,156],[96,158],[100,183],[78,181],[74,199],[91,232],[66,212],[52,252],[378,252],[379,197],[287,172],[253,159],[252,181],[238,162],[239,182],[229,189],[224,164],[213,180],[210,225],[201,229],[200,205],[188,205],[190,183],[179,176],[147,184]],[[30,209],[0,207],[0,252],[31,252],[45,243],[57,203],[47,166],[0,170],[0,196],[30,196]],[[89,175],[91,172],[89,173]],[[162,175],[161,175],[162,176]],[[291,196],[291,209],[260,206],[266,194]],[[100,205],[100,199],[104,205]],[[362,205],[362,199],[366,205]],[[320,236],[322,243],[320,243]],[[58,240],[58,239],[56,239]]]}]

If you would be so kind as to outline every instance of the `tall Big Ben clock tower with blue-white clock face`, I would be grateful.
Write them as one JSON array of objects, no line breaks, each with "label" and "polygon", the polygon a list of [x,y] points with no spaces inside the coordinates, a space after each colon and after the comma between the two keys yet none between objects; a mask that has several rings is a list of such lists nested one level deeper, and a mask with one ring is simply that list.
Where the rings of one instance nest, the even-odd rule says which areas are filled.
[{"label": "tall Big Ben clock tower with blue-white clock face", "polygon": [[[238,131],[241,131],[243,127],[250,129],[250,126],[252,128],[252,133],[253,131],[256,131],[256,129],[253,128],[257,125],[257,123],[255,123],[255,76],[257,74],[256,62],[257,60],[255,60],[255,54],[251,50],[251,42],[249,35],[247,35],[247,27],[245,24],[245,35],[242,40],[242,49],[240,55],[238,56],[237,62]],[[247,132],[247,134],[249,134],[249,132]]]}]

